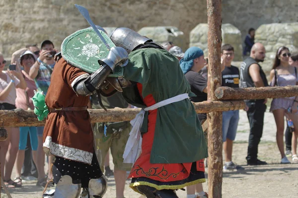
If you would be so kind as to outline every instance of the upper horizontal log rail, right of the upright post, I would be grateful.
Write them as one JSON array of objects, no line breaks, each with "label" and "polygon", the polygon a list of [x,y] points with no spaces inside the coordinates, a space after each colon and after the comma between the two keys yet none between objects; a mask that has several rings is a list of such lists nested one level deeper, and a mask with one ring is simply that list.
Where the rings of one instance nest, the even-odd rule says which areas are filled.
[{"label": "upper horizontal log rail, right of the upright post", "polygon": [[298,86],[230,88],[219,87],[215,96],[220,100],[275,99],[298,96]]}]

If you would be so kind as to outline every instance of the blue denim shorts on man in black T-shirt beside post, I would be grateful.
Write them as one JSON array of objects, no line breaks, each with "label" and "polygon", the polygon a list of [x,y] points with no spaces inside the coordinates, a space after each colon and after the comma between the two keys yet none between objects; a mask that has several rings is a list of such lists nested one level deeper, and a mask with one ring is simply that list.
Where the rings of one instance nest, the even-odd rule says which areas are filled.
[{"label": "blue denim shorts on man in black T-shirt beside post", "polygon": [[239,122],[239,110],[230,110],[223,112],[223,142],[228,138],[234,141]]}]

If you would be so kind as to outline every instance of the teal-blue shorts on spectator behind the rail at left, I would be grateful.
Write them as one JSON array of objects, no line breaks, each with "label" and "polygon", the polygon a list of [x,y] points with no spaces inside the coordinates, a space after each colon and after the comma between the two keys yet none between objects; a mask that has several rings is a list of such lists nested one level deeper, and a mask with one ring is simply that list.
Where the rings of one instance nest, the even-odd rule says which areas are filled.
[{"label": "teal-blue shorts on spectator behind the rail at left", "polygon": [[27,136],[30,136],[30,143],[32,150],[37,150],[38,139],[36,127],[20,127],[20,141],[19,141],[19,150],[25,150],[27,145]]}]

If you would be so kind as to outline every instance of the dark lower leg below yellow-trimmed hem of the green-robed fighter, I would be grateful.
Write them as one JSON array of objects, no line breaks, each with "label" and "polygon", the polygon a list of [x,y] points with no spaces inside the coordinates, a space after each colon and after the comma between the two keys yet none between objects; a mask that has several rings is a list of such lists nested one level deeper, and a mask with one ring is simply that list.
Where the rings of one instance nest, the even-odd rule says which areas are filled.
[{"label": "dark lower leg below yellow-trimmed hem of the green-robed fighter", "polygon": [[178,198],[175,190],[156,190],[149,186],[138,186],[137,189],[147,198]]}]

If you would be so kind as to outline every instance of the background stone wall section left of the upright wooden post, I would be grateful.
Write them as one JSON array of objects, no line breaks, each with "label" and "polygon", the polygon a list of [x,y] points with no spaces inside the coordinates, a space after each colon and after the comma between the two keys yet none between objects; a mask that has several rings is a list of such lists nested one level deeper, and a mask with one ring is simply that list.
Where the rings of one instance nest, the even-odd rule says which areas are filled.
[{"label": "background stone wall section left of the upright wooden post", "polygon": [[45,39],[60,49],[65,37],[89,26],[74,3],[86,7],[93,22],[102,27],[138,31],[146,26],[175,26],[189,35],[197,24],[207,21],[206,0],[0,0],[4,57]]}]

